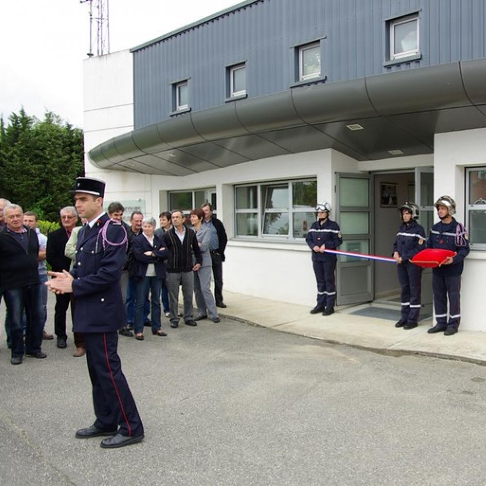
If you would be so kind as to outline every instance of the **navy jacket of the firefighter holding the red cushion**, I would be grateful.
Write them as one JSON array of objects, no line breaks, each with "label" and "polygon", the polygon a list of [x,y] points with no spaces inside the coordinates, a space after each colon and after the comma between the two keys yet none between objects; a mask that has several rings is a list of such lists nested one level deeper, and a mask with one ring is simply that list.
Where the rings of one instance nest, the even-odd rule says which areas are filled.
[{"label": "navy jacket of the firefighter holding the red cushion", "polygon": [[439,221],[432,226],[427,240],[427,248],[443,248],[457,252],[451,265],[442,265],[432,271],[444,277],[454,277],[462,274],[464,259],[469,254],[469,241],[466,228],[452,218],[451,223]]}]

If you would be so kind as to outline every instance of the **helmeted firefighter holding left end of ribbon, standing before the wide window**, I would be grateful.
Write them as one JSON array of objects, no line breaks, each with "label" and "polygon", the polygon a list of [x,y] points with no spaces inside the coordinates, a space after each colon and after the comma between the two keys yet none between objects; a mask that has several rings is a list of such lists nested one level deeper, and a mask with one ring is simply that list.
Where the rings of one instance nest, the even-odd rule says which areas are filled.
[{"label": "helmeted firefighter holding left end of ribbon, standing before the wide window", "polygon": [[311,314],[322,312],[330,315],[334,312],[336,302],[336,255],[325,253],[325,249],[335,250],[343,240],[338,224],[329,219],[331,207],[329,203],[321,203],[315,207],[317,221],[312,223],[307,233],[306,243],[312,250],[312,266],[317,281],[317,305]]}]

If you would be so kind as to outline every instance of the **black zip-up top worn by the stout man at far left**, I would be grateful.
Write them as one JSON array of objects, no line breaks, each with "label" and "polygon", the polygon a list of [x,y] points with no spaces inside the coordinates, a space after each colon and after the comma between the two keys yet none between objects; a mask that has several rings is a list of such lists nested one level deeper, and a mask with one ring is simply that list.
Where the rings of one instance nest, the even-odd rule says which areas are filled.
[{"label": "black zip-up top worn by the stout man at far left", "polygon": [[28,238],[26,252],[7,226],[0,229],[0,287],[2,290],[18,289],[39,283],[39,241],[31,228],[23,233]]}]

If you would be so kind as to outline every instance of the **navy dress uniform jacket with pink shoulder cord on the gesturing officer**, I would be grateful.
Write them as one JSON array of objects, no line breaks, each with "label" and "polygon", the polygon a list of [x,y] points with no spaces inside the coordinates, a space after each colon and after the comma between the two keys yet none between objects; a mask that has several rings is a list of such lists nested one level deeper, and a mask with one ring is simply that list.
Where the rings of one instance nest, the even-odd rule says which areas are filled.
[{"label": "navy dress uniform jacket with pink shoulder cord on the gesturing officer", "polygon": [[106,221],[109,218],[103,214],[88,234],[85,226],[78,235],[76,261],[71,270],[76,297],[74,332],[112,332],[126,323],[120,288],[126,234],[120,222],[110,221],[104,243],[102,229]]}]

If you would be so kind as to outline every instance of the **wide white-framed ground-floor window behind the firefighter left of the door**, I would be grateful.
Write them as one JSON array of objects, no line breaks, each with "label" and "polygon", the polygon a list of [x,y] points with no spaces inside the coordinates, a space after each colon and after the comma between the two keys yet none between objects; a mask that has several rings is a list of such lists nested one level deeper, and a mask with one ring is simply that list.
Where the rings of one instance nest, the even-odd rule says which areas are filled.
[{"label": "wide white-framed ground-floor window behind the firefighter left of the door", "polygon": [[316,203],[316,180],[236,186],[236,236],[275,240],[305,238],[315,220]]}]

